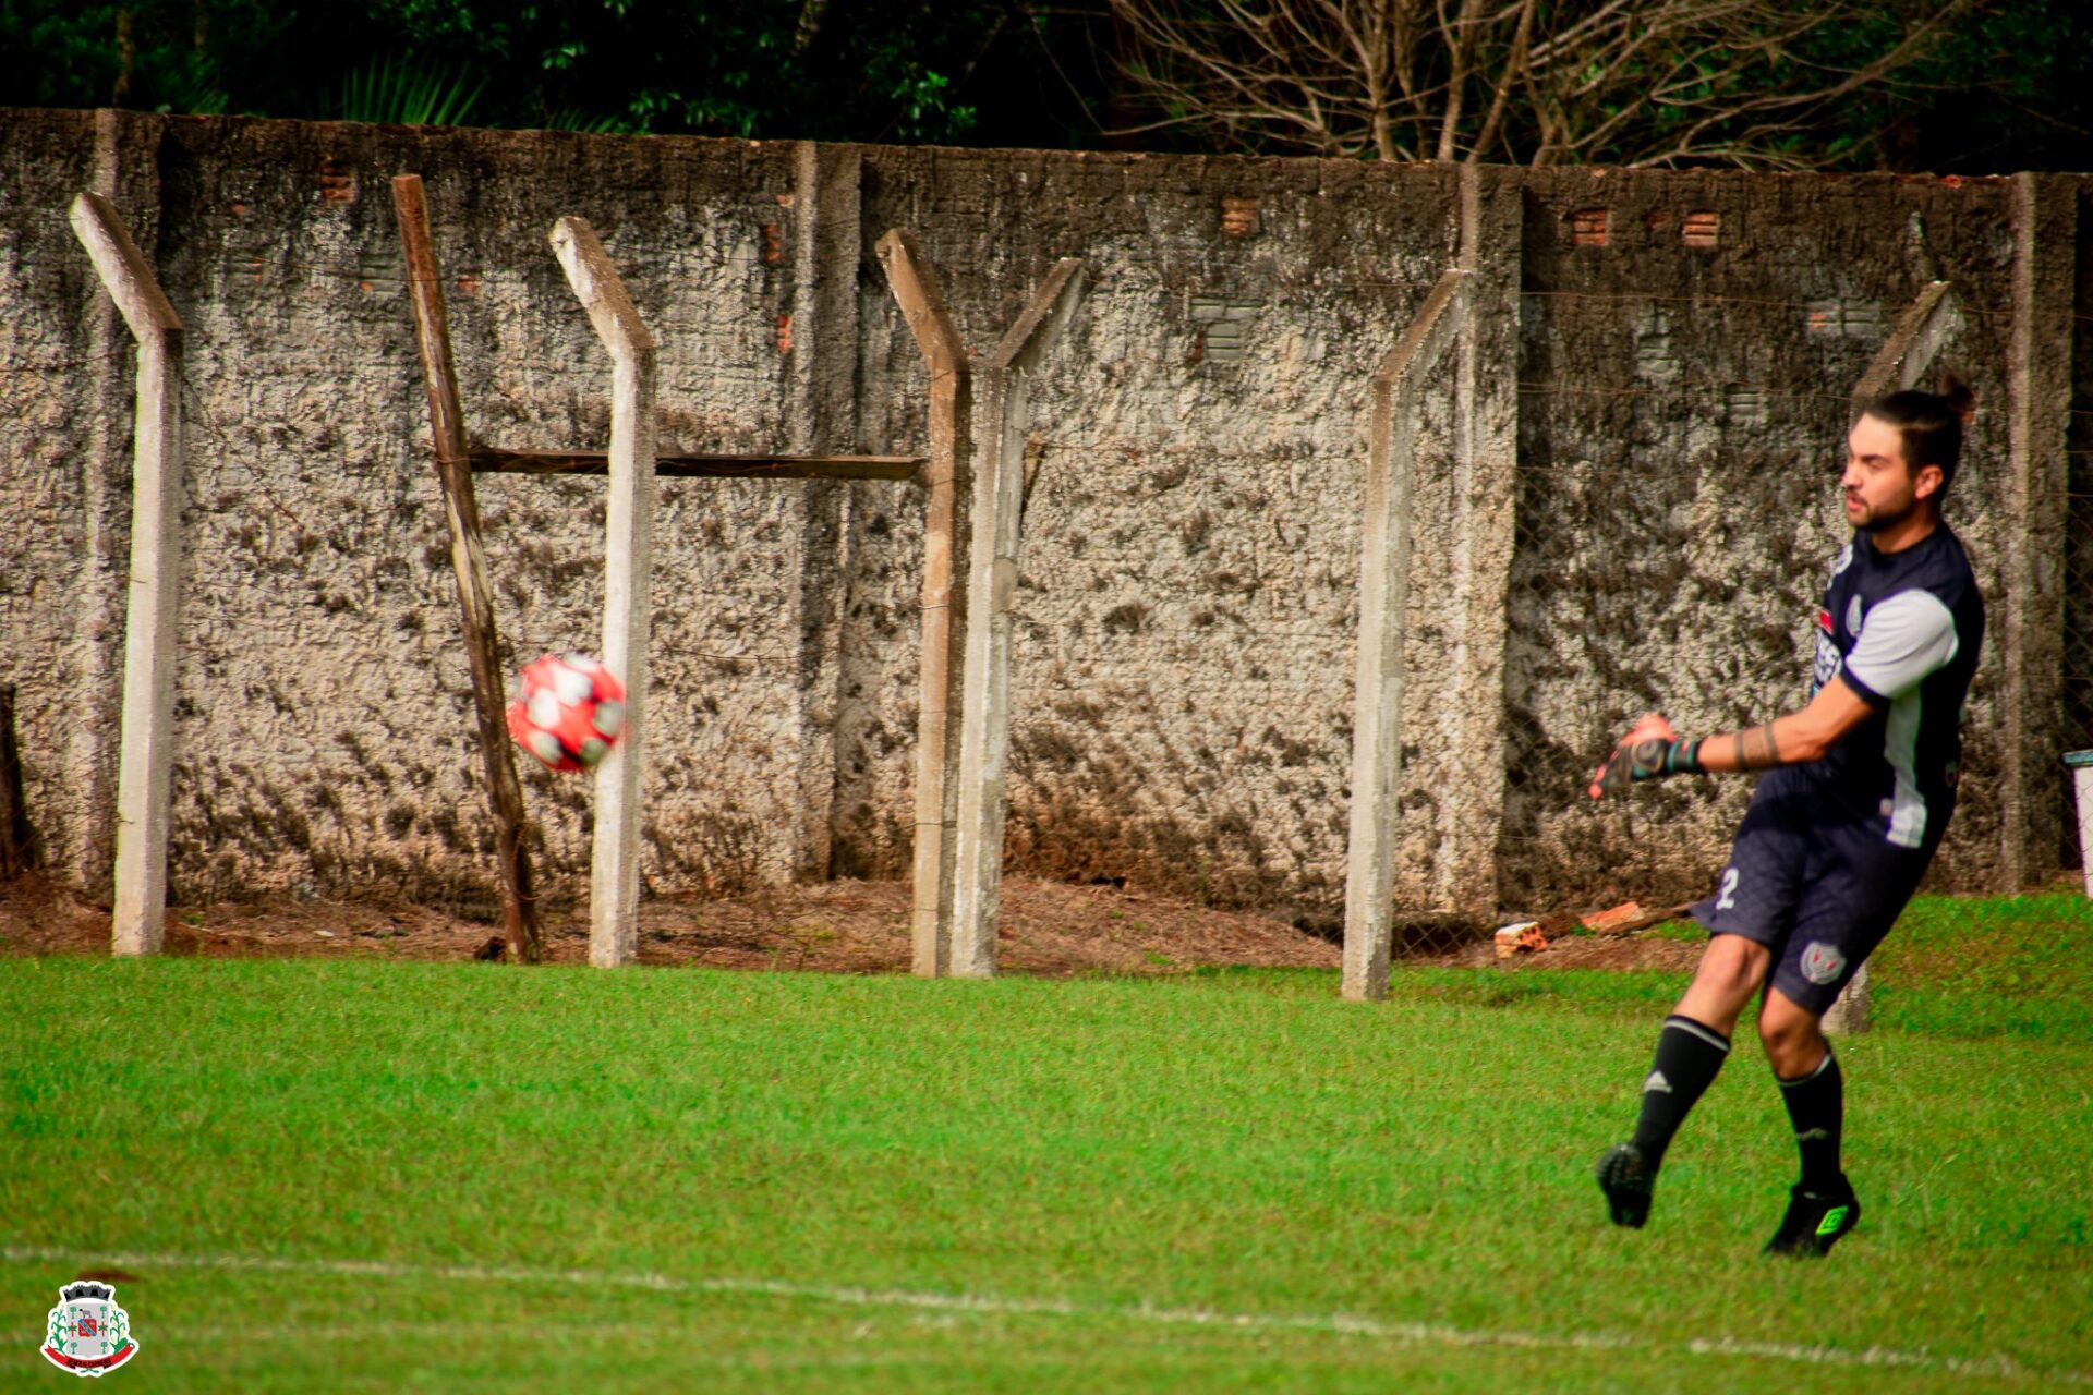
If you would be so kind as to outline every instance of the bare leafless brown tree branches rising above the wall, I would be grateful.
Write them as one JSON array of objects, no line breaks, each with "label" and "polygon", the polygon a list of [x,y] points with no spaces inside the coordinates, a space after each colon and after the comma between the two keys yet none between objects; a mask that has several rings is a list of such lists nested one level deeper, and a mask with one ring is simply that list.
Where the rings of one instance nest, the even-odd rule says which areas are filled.
[{"label": "bare leafless brown tree branches rising above the wall", "polygon": [[[1867,0],[1111,0],[1149,119],[1310,155],[1810,167],[1854,92],[1978,0],[1915,0],[1844,63]],[[1522,100],[1513,102],[1513,94]],[[1488,100],[1482,100],[1482,98]]]}]

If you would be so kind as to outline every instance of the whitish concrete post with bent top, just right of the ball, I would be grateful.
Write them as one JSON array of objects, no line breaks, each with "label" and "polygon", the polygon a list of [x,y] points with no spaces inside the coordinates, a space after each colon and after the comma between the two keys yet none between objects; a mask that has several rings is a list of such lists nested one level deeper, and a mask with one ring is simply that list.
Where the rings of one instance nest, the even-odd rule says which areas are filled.
[{"label": "whitish concrete post with bent top, just right of the ball", "polygon": [[640,784],[647,772],[647,630],[653,577],[655,341],[617,268],[580,218],[553,224],[553,253],[611,351],[611,498],[603,540],[603,663],[626,684],[626,734],[597,768],[588,870],[588,962],[638,950]]}]

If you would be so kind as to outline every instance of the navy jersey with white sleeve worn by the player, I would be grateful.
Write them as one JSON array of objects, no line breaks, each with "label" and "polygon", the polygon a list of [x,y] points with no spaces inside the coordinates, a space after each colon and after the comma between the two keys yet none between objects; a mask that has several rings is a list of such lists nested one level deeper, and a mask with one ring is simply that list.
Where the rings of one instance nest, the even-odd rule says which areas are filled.
[{"label": "navy jersey with white sleeve worn by the player", "polygon": [[1844,676],[1873,711],[1798,770],[1892,845],[1932,849],[1955,809],[1961,713],[1982,646],[1984,598],[1944,523],[1888,554],[1854,533],[1817,615],[1810,696]]}]

